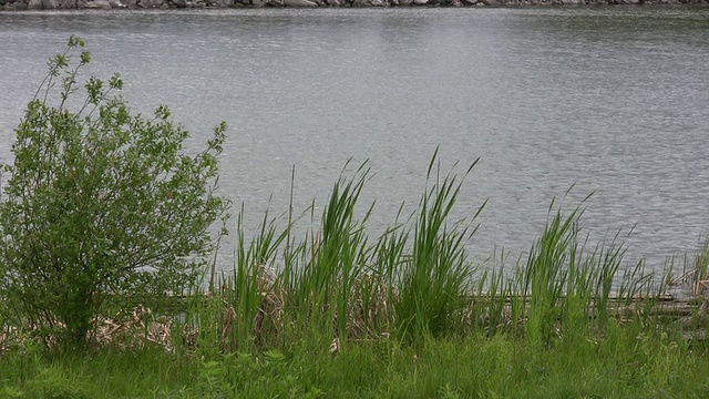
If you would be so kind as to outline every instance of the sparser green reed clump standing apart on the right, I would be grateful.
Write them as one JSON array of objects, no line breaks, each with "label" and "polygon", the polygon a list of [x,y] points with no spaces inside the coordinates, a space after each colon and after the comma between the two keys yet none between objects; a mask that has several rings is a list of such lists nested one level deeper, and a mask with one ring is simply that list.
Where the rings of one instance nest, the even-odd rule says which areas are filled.
[{"label": "sparser green reed clump standing apart on the right", "polygon": [[[607,326],[626,248],[616,234],[610,243],[604,241],[587,250],[588,236],[582,239],[579,229],[583,213],[582,207],[572,212],[563,212],[561,206],[555,209],[552,202],[542,236],[534,243],[526,264],[517,267],[516,286],[528,306],[514,306],[525,318],[531,341],[548,344],[554,336],[585,336],[592,327]],[[637,288],[621,284],[617,295],[624,297],[628,289],[635,293]]]}]

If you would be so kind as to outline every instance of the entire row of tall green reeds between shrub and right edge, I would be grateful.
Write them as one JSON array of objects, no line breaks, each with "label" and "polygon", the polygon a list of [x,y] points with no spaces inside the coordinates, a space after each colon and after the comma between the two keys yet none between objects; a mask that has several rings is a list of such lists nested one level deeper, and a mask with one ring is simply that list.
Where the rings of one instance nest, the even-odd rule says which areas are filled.
[{"label": "entire row of tall green reeds between shrub and right edge", "polygon": [[[215,357],[299,339],[338,352],[348,341],[470,334],[511,335],[549,348],[559,340],[603,338],[612,324],[668,331],[676,326],[658,316],[667,282],[654,279],[643,259],[628,267],[620,233],[597,244],[584,235],[579,224],[588,197],[571,211],[552,202],[540,238],[516,259],[512,276],[504,250],[473,264],[467,244],[485,203],[469,218],[451,215],[475,163],[460,176],[456,166],[442,176],[434,154],[417,211],[399,213],[374,239],[367,232],[373,204],[359,201],[371,176],[367,163],[343,170],[319,223],[315,205],[302,213],[315,227],[300,241],[290,209],[285,227],[282,217],[264,215],[250,241],[242,212],[235,267],[209,277],[218,289],[189,296],[182,331],[198,331],[194,346],[210,348],[206,355]],[[697,254],[697,276],[706,253]],[[701,311],[693,309],[702,321],[695,328],[703,327]]]}]

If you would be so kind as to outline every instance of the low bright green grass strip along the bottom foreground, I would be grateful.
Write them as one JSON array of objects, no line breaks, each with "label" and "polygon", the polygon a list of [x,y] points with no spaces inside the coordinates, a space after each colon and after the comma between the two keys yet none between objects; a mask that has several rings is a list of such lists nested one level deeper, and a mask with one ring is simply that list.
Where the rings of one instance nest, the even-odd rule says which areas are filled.
[{"label": "low bright green grass strip along the bottom foreground", "polygon": [[104,350],[0,361],[18,398],[705,398],[709,358],[666,335],[613,325],[605,339],[540,349],[507,335],[362,341],[337,355],[302,337],[280,349],[201,356]]}]

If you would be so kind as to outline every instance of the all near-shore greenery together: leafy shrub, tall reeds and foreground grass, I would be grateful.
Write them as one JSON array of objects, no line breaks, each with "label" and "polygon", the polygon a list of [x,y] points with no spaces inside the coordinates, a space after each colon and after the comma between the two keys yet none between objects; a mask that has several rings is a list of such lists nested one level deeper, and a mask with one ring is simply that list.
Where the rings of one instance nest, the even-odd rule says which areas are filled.
[{"label": "all near-shore greenery together: leafy shrub, tall reeds and foreground grass", "polygon": [[658,276],[620,235],[588,242],[585,202],[554,202],[525,257],[474,263],[486,204],[452,215],[476,161],[445,173],[438,153],[383,234],[364,163],[321,215],[248,237],[215,190],[226,125],[185,154],[168,109],[134,115],[120,75],[81,76],[83,47],[50,61],[2,168],[0,398],[709,396],[709,245]]}]

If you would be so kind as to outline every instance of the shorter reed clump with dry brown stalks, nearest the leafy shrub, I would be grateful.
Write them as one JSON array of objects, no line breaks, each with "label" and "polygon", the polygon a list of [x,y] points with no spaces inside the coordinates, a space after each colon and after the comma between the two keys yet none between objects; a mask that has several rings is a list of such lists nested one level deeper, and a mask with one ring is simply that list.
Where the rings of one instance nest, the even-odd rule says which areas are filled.
[{"label": "shorter reed clump with dry brown stalks, nearest the leafy shrub", "polygon": [[[204,276],[208,286],[198,282],[187,293],[185,323],[176,336],[183,341],[197,339],[206,356],[261,347],[282,330],[281,275],[276,262],[287,231],[280,231],[278,218],[266,212],[256,235],[247,241],[244,214],[242,206],[234,268],[218,274],[208,270],[209,276]],[[195,331],[198,337],[191,337]]]}]

